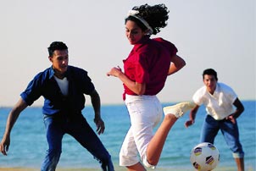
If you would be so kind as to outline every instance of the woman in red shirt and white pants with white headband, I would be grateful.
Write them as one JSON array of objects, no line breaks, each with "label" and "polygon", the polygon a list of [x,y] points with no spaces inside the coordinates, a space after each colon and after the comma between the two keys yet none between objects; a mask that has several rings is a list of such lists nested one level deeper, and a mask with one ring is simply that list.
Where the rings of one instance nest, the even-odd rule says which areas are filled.
[{"label": "woman in red shirt and white pants with white headband", "polygon": [[[156,95],[164,87],[168,75],[185,66],[170,41],[150,36],[159,33],[169,18],[164,4],[134,7],[125,19],[125,35],[134,47],[124,60],[124,70],[110,69],[109,76],[118,77],[124,85],[124,100],[131,118],[131,128],[120,150],[120,165],[128,170],[146,170],[142,163],[154,168],[159,162],[164,141],[179,116],[167,114],[153,135],[153,127],[162,118],[163,109]],[[137,158],[139,152],[142,163]]]}]

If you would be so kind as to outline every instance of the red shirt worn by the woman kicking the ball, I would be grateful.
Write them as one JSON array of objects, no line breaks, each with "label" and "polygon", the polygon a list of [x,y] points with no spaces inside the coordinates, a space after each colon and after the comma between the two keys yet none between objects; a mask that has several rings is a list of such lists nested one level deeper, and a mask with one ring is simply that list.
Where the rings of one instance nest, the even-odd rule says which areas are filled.
[{"label": "red shirt worn by the woman kicking the ball", "polygon": [[[157,95],[164,87],[170,69],[170,59],[177,48],[162,38],[144,37],[123,60],[125,75],[137,83],[146,83],[144,95]],[[136,95],[125,84],[125,94]],[[125,96],[124,96],[125,100]]]}]

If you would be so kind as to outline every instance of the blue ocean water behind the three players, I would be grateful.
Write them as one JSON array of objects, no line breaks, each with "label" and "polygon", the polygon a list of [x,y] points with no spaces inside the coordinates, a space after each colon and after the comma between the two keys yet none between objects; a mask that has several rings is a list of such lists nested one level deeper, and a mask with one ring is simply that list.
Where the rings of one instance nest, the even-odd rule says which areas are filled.
[{"label": "blue ocean water behind the three players", "polygon": [[[249,170],[256,170],[256,143],[255,143],[255,108],[256,101],[243,101],[245,111],[237,119],[240,140],[245,152],[245,166]],[[167,106],[170,104],[163,104]],[[2,139],[8,112],[11,108],[0,108],[0,138]],[[83,110],[89,124],[95,130],[93,123],[92,106],[86,106]],[[201,126],[205,112],[201,107],[198,110],[196,123],[192,127],[185,128],[184,123],[188,119],[188,113],[179,119],[167,138],[164,150],[159,161],[159,168],[179,168],[193,170],[190,163],[190,151],[198,144]],[[110,152],[114,165],[119,163],[119,151],[121,143],[129,129],[130,120],[125,104],[102,106],[102,118],[106,124],[103,135],[99,135],[103,144]],[[215,146],[220,151],[220,163],[218,167],[234,167],[230,149],[226,146],[223,136],[219,132],[215,138]],[[0,167],[26,167],[40,168],[42,159],[47,151],[45,129],[42,122],[41,108],[26,108],[23,111],[11,134],[11,145],[8,156],[0,155]],[[63,152],[58,163],[59,168],[98,168],[99,164],[92,155],[82,148],[73,137],[64,135]]]}]

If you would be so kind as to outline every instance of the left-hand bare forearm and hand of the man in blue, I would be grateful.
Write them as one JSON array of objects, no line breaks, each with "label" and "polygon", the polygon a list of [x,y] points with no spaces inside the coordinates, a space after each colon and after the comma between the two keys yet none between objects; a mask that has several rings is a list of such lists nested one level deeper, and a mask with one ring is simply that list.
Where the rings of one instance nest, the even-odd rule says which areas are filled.
[{"label": "left-hand bare forearm and hand of the man in blue", "polygon": [[19,118],[19,114],[27,107],[27,104],[22,98],[19,98],[19,101],[15,104],[14,108],[8,114],[8,119],[3,134],[3,139],[0,143],[0,151],[3,155],[7,155],[8,146],[10,145],[10,134],[11,130],[14,127],[16,120]]}]

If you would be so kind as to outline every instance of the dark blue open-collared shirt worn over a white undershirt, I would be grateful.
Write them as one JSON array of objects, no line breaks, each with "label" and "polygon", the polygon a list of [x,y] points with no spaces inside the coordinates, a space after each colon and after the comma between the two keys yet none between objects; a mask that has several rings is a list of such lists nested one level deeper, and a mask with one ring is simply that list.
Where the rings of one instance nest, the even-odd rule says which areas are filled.
[{"label": "dark blue open-collared shirt worn over a white undershirt", "polygon": [[65,76],[69,80],[69,94],[66,97],[61,93],[53,75],[52,67],[36,74],[20,97],[29,106],[39,97],[44,97],[42,113],[47,115],[81,113],[86,102],[84,94],[89,95],[95,90],[86,70],[73,66],[68,67]]}]

